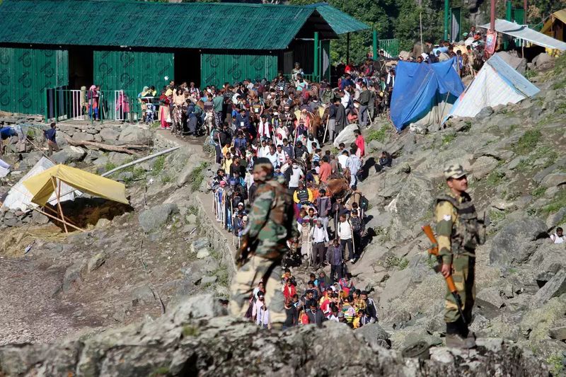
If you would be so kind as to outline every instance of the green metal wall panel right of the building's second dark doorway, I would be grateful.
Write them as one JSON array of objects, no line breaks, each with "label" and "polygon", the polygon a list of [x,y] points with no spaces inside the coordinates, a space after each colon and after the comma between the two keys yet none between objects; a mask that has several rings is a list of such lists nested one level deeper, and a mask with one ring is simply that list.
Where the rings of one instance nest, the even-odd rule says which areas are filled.
[{"label": "green metal wall panel right of the building's second dark doorway", "polygon": [[277,55],[202,54],[200,86],[222,86],[244,79],[267,79],[277,76]]}]

